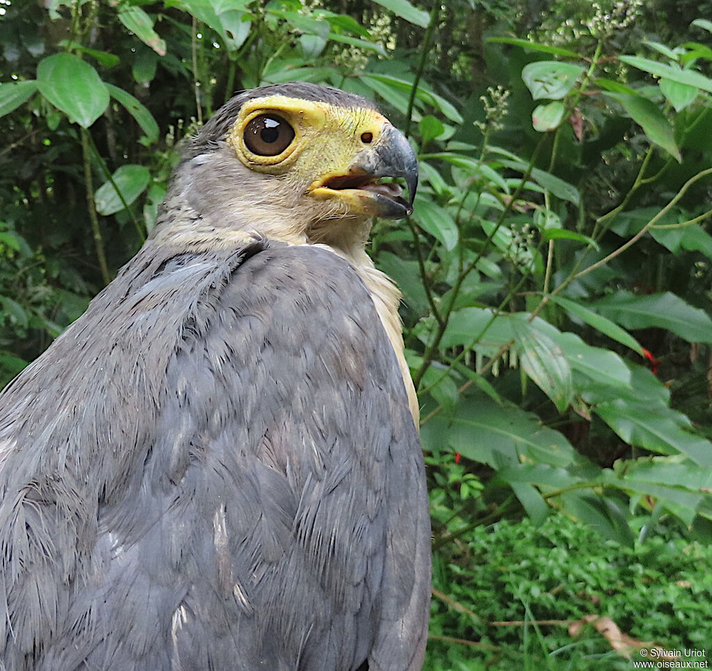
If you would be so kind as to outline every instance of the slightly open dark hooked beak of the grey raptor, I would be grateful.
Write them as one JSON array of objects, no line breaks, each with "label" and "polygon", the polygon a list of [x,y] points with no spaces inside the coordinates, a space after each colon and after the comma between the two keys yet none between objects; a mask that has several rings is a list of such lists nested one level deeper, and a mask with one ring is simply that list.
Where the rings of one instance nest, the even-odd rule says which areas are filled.
[{"label": "slightly open dark hooked beak of the grey raptor", "polygon": [[[379,182],[381,177],[402,177],[409,199],[395,182]],[[356,214],[401,219],[412,214],[417,187],[417,157],[405,136],[387,124],[373,147],[359,152],[344,172],[314,182],[310,194],[345,201]]]}]

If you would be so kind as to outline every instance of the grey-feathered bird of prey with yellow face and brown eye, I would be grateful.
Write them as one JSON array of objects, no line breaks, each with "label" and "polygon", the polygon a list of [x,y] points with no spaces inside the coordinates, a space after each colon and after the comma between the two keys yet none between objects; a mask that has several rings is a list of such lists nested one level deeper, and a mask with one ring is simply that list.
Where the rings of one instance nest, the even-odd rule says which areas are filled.
[{"label": "grey-feathered bird of prey with yellow face and brown eye", "polygon": [[0,669],[421,668],[417,401],[365,252],[416,185],[372,103],[312,84],[189,142],[145,245],[0,396]]}]

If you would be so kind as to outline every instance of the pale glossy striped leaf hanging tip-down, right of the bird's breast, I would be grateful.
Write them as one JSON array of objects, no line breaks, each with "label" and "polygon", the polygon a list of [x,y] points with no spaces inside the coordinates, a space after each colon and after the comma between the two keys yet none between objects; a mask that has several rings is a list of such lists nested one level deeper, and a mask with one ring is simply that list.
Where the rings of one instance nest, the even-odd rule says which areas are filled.
[{"label": "pale glossy striped leaf hanging tip-down, right of the bird's breast", "polygon": [[512,320],[513,349],[524,372],[564,412],[574,397],[571,368],[557,344],[528,321]]}]

